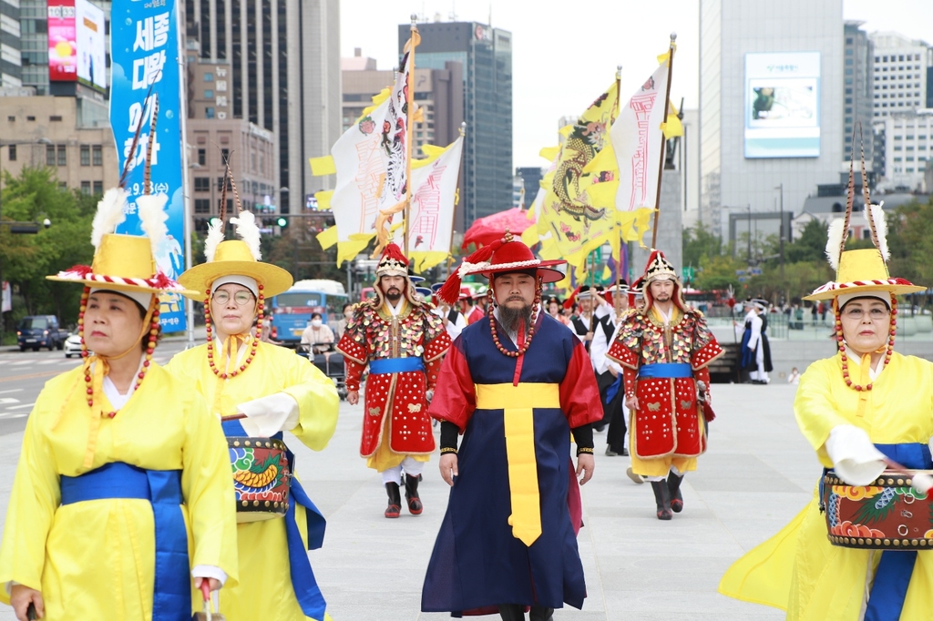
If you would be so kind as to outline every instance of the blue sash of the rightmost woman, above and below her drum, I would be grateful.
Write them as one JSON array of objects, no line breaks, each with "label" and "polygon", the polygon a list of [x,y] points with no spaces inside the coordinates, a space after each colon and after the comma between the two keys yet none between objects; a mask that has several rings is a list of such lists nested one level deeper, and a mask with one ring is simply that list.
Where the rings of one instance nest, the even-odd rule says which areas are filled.
[{"label": "blue sash of the rightmost woman, above and below her drum", "polygon": [[[930,449],[926,444],[876,444],[886,457],[912,470],[933,467]],[[865,621],[898,621],[907,587],[911,584],[916,550],[884,550],[874,583],[871,585]]]}]

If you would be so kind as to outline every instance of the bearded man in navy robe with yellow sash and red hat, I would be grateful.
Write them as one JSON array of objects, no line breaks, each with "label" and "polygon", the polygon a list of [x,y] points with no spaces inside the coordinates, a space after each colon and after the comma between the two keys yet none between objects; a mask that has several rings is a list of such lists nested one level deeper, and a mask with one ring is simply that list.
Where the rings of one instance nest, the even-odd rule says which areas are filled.
[{"label": "bearded man in navy robe with yellow sash and red hat", "polygon": [[[488,278],[494,304],[454,343],[431,403],[441,421],[440,473],[452,488],[422,610],[498,610],[509,621],[531,606],[543,621],[586,597],[577,476],[581,484],[592,476],[591,423],[602,407],[583,346],[540,310],[542,283],[563,279],[554,267],[564,261],[536,259],[510,238],[467,257],[459,271]],[[455,296],[455,283],[445,293]]]}]

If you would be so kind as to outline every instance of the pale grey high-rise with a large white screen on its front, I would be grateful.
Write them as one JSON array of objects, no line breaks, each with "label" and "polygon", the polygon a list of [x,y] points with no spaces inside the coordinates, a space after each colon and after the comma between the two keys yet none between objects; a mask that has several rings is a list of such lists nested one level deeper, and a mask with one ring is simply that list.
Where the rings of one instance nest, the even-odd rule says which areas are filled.
[{"label": "pale grey high-rise with a large white screen on its front", "polygon": [[[764,219],[782,198],[786,212],[799,212],[812,188],[835,181],[843,89],[855,88],[843,75],[843,43],[842,0],[701,0],[704,226],[725,237],[730,214]],[[776,234],[781,220],[768,222],[765,234]]]}]

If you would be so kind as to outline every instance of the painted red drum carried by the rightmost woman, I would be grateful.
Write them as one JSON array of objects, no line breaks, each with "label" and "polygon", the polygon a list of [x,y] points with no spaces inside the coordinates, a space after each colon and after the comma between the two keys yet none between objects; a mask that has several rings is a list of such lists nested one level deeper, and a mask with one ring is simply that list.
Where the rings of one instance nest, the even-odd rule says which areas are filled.
[{"label": "painted red drum carried by the rightmost woman", "polygon": [[821,498],[829,542],[878,550],[933,549],[933,499],[911,485],[911,476],[884,471],[870,485],[851,486],[829,470]]}]

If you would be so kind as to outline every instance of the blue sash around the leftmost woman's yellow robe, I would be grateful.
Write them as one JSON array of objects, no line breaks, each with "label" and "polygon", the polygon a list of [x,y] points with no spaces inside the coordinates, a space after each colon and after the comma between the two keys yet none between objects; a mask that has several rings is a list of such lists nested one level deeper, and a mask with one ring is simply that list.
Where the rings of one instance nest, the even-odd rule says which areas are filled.
[{"label": "blue sash around the leftmost woman's yellow robe", "polygon": [[181,470],[146,470],[107,463],[81,476],[62,476],[62,504],[138,498],[152,504],[156,531],[152,621],[190,621],[188,531],[181,504]]}]

